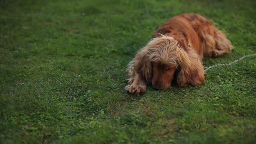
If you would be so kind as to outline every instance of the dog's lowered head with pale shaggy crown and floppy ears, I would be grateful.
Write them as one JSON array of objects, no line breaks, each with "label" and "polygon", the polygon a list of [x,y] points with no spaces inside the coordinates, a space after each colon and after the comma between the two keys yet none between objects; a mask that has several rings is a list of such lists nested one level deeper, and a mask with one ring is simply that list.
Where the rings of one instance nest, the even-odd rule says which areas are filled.
[{"label": "dog's lowered head with pale shaggy crown and floppy ears", "polygon": [[[178,41],[170,36],[161,35],[153,38],[148,44],[138,52],[134,59],[134,64],[139,65],[140,72],[146,81],[152,82],[152,87],[156,89],[170,88],[176,71],[177,83],[185,86],[192,81],[192,77],[202,77],[204,74],[194,72],[198,60],[196,52],[186,52],[180,47]],[[200,66],[200,64],[199,64]],[[201,66],[202,67],[202,66]],[[190,72],[192,70],[193,72]],[[203,68],[200,68],[202,71]],[[194,76],[193,76],[194,74]]]}]

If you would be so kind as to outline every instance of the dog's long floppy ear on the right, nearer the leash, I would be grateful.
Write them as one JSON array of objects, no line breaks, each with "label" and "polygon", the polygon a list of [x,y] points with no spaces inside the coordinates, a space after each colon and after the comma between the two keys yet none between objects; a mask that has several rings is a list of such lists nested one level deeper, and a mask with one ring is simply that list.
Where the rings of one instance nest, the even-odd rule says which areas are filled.
[{"label": "dog's long floppy ear on the right, nearer the leash", "polygon": [[178,86],[200,86],[204,83],[204,66],[198,54],[192,49],[177,49],[180,66],[177,74]]}]

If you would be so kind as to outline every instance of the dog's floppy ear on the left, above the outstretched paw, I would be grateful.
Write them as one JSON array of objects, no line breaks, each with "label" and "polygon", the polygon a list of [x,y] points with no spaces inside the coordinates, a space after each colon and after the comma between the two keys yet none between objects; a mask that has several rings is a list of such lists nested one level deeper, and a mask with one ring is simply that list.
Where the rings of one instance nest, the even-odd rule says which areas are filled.
[{"label": "dog's floppy ear on the left, above the outstretched paw", "polygon": [[146,81],[152,81],[152,63],[148,60],[150,51],[147,48],[142,48],[134,58],[134,70],[142,74]]}]

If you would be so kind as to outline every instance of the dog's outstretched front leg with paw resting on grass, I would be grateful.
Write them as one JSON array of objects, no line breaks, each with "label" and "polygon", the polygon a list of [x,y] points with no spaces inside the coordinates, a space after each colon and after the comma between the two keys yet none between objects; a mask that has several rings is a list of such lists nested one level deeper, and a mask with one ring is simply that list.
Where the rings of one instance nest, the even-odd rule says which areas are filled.
[{"label": "dog's outstretched front leg with paw resting on grass", "polygon": [[139,94],[145,92],[145,80],[142,74],[140,74],[139,70],[134,69],[133,60],[129,63],[128,71],[130,78],[128,79],[128,85],[124,89],[132,94]]}]

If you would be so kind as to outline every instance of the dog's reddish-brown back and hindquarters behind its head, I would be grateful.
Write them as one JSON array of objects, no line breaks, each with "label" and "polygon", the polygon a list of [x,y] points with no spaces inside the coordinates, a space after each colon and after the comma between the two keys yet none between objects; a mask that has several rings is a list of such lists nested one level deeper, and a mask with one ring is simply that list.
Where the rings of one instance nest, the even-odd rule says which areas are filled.
[{"label": "dog's reddish-brown back and hindquarters behind its head", "polygon": [[152,38],[160,34],[175,38],[183,48],[190,44],[201,58],[230,53],[232,49],[226,36],[199,14],[186,13],[170,18],[155,31]]}]

